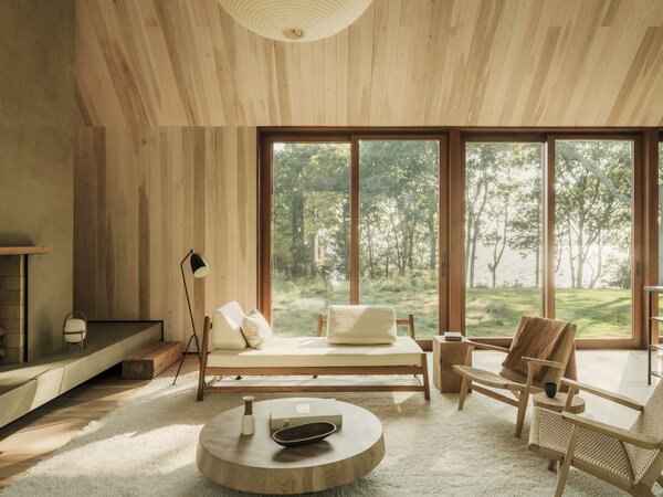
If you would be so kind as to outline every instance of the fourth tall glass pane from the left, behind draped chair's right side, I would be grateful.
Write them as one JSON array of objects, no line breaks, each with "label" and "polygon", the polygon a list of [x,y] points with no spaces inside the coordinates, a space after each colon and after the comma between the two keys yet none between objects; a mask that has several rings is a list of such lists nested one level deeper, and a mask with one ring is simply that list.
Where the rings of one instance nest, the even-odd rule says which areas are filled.
[{"label": "fourth tall glass pane from the left, behind draped chair's right side", "polygon": [[555,315],[580,338],[630,338],[633,144],[555,145]]}]

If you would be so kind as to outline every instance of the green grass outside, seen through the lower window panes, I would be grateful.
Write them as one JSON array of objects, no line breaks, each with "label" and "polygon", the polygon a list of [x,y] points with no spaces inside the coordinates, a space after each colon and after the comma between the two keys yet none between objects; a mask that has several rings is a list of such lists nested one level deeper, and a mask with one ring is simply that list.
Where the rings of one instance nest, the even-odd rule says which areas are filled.
[{"label": "green grass outside, seen through the lower window panes", "polygon": [[[417,338],[438,330],[438,293],[430,281],[361,283],[361,304],[386,304],[397,315],[414,314]],[[537,288],[467,288],[465,319],[467,336],[511,337],[522,315],[540,315]],[[313,336],[317,315],[330,304],[349,300],[347,284],[332,288],[324,284],[274,285],[274,330],[281,336]],[[557,289],[559,319],[578,325],[579,338],[628,338],[631,336],[631,292],[629,289]],[[406,332],[406,330],[401,330]]]}]

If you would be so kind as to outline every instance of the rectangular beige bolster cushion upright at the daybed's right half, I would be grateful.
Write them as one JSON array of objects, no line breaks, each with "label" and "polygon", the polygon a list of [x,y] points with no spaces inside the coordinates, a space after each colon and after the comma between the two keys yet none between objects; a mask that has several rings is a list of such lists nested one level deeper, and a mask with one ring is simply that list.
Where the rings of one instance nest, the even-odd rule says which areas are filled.
[{"label": "rectangular beige bolster cushion upright at the daybed's right half", "polygon": [[396,313],[388,306],[329,306],[327,341],[378,345],[396,341]]}]

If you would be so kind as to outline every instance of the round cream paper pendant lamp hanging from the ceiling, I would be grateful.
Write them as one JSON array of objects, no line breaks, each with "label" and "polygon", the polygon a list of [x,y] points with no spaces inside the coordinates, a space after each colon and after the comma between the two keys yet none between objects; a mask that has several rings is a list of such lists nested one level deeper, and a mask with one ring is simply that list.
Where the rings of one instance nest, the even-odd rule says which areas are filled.
[{"label": "round cream paper pendant lamp hanging from the ceiling", "polygon": [[309,42],[346,29],[372,0],[219,0],[244,28],[272,40]]}]

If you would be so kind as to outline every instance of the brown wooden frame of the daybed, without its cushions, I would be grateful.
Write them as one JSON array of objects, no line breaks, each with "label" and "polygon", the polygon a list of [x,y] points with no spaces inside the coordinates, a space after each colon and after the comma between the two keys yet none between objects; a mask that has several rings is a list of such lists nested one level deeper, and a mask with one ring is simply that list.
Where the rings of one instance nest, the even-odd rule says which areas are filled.
[{"label": "brown wooden frame of the daybed, without its cushions", "polygon": [[[322,336],[323,327],[326,324],[324,316],[318,316],[317,336]],[[408,319],[397,319],[397,325],[407,325],[410,328],[410,337],[414,339],[414,316],[409,315]],[[202,331],[202,350],[208,350],[210,340],[210,330],[212,328],[211,319],[206,316]],[[425,352],[421,353],[421,366],[366,366],[366,367],[264,367],[264,368],[222,368],[207,366],[208,355],[203,353],[198,376],[198,401],[201,401],[206,393],[278,393],[278,392],[423,392],[425,400],[431,399],[431,390],[428,374],[428,360]],[[357,385],[261,385],[261,387],[214,387],[213,382],[206,383],[206,376],[217,377],[250,377],[250,376],[328,376],[328,374],[412,374],[423,377],[423,383],[420,384],[357,384]]]}]

